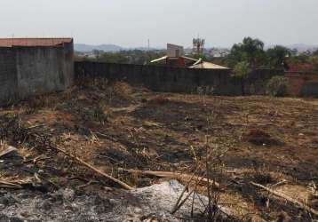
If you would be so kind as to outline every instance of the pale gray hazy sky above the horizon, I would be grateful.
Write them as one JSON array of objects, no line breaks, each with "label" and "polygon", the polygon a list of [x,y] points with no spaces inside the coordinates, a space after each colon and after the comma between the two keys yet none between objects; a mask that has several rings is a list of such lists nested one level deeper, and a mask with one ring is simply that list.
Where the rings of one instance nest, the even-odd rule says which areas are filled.
[{"label": "pale gray hazy sky above the horizon", "polygon": [[1,37],[74,36],[76,43],[153,47],[318,44],[318,0],[0,0]]}]

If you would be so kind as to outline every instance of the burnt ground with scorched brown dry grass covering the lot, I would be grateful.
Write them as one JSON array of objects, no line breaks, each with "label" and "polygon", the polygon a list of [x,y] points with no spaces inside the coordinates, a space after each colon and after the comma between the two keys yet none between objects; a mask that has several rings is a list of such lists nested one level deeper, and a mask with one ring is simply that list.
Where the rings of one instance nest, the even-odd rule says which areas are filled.
[{"label": "burnt ground with scorched brown dry grass covering the lot", "polygon": [[210,135],[207,146],[223,152],[219,202],[237,218],[311,219],[251,181],[268,186],[285,179],[274,186],[277,191],[318,210],[318,99],[155,93],[98,80],[2,107],[0,126],[2,149],[19,149],[0,157],[0,179],[31,190],[39,189],[31,186],[35,173],[44,190],[72,187],[89,194],[116,186],[51,146],[143,187],[158,178],[119,169],[191,172],[204,158]]}]

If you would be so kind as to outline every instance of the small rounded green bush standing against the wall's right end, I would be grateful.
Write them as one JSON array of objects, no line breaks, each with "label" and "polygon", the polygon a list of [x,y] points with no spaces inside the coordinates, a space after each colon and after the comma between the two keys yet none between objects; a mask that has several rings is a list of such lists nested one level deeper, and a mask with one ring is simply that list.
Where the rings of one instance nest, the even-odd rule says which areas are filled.
[{"label": "small rounded green bush standing against the wall's right end", "polygon": [[272,77],[266,85],[266,94],[282,97],[286,94],[288,79],[285,76],[276,75]]}]

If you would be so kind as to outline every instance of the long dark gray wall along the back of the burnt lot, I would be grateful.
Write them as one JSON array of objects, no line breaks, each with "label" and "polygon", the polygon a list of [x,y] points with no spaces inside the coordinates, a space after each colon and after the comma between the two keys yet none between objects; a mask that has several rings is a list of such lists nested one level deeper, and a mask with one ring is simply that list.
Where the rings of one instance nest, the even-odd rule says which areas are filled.
[{"label": "long dark gray wall along the back of the burnt lot", "polygon": [[283,75],[282,70],[262,69],[250,73],[242,81],[229,69],[198,69],[180,67],[157,67],[131,64],[114,64],[76,61],[76,78],[105,77],[146,86],[153,91],[197,92],[216,95],[264,94],[268,79]]}]

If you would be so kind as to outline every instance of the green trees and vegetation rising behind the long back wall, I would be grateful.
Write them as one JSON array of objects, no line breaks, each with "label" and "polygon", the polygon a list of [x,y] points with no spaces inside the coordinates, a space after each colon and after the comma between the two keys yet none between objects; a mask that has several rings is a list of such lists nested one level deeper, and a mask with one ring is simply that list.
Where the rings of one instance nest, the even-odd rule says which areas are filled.
[{"label": "green trees and vegetation rising behind the long back wall", "polygon": [[[93,56],[77,57],[76,59],[89,59],[112,63],[127,63],[146,65],[153,59],[166,55],[165,50],[143,51],[126,50],[120,52],[93,51]],[[190,55],[191,56],[191,55]],[[192,55],[193,58],[197,56]],[[204,60],[231,67],[242,73],[242,70],[256,68],[277,68],[277,69],[317,69],[318,70],[318,49],[315,52],[298,53],[297,50],[290,50],[282,45],[265,50],[264,43],[258,38],[245,37],[242,43],[234,44],[229,54],[221,59],[211,59],[209,56],[202,56]]]}]

